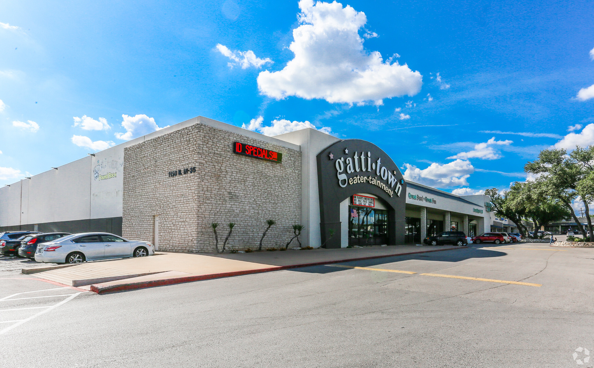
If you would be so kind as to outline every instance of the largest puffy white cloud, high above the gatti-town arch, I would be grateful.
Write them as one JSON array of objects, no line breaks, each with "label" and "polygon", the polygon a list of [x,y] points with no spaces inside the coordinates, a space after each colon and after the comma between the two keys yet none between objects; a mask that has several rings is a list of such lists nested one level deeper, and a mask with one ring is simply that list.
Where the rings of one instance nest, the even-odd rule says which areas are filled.
[{"label": "largest puffy white cloud, high above the gatti-town arch", "polygon": [[258,88],[280,100],[287,96],[324,99],[330,103],[377,106],[383,99],[414,96],[422,75],[406,64],[383,61],[377,51],[364,49],[359,30],[367,23],[364,12],[334,1],[299,1],[299,22],[289,49],[295,58],[281,71],[263,71]]}]

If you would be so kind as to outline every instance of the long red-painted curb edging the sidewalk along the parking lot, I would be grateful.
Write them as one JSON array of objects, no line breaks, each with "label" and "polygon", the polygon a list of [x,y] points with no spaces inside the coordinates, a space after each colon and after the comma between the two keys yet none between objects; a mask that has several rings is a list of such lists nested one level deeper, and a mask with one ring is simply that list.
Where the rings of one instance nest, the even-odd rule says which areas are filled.
[{"label": "long red-painted curb edging the sidewalk along the parking lot", "polygon": [[443,252],[444,250],[456,250],[456,249],[464,249],[464,248],[468,248],[468,247],[467,246],[462,246],[462,247],[457,246],[456,248],[420,250],[419,252],[396,253],[396,254],[379,255],[379,256],[340,259],[337,261],[312,262],[312,263],[305,263],[305,264],[276,266],[276,267],[268,267],[268,268],[260,268],[260,269],[247,269],[245,271],[233,271],[233,272],[222,272],[222,273],[217,273],[217,274],[165,278],[162,280],[141,281],[138,283],[125,283],[125,284],[119,284],[119,285],[106,285],[106,286],[91,285],[91,291],[93,291],[94,293],[97,293],[97,294],[107,294],[107,293],[115,293],[117,291],[136,290],[136,289],[147,288],[147,287],[191,283],[192,281],[211,280],[213,278],[233,277],[233,276],[241,276],[241,275],[249,275],[249,274],[261,274],[263,272],[280,271],[282,269],[320,266],[320,265],[342,263],[342,262],[352,262],[352,261],[365,261],[366,259],[405,256],[405,255],[418,254],[418,253]]}]

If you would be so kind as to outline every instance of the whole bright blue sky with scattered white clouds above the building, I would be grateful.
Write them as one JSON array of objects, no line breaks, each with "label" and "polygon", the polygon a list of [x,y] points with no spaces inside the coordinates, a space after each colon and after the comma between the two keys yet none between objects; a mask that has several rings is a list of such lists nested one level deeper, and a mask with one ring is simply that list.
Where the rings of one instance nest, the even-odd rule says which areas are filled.
[{"label": "whole bright blue sky with scattered white clouds above the building", "polygon": [[5,1],[0,183],[203,115],[366,139],[455,193],[507,188],[539,150],[594,144],[593,15],[589,1]]}]

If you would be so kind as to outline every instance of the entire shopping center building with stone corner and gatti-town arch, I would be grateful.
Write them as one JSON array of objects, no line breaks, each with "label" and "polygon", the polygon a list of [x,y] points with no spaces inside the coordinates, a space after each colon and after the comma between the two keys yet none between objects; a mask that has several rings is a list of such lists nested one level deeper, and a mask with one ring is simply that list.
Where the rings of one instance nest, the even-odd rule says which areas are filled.
[{"label": "entire shopping center building with stone corner and gatti-town arch", "polygon": [[[396,157],[396,160],[399,158]],[[400,245],[429,234],[491,230],[484,195],[403,179],[380,147],[315,129],[267,137],[190,119],[0,188],[0,230],[108,231],[160,250]],[[293,243],[292,246],[296,245]]]}]

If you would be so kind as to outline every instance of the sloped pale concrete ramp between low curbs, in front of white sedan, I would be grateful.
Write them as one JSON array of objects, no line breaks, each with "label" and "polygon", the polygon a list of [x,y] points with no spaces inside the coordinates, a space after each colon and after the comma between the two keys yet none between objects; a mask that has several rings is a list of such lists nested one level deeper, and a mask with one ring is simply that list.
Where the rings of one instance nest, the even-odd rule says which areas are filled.
[{"label": "sloped pale concrete ramp between low curbs, in front of white sedan", "polygon": [[55,281],[56,283],[78,287],[159,273],[160,272],[130,274],[129,271],[100,267],[94,264],[81,264],[67,268],[38,272],[34,274],[34,276],[45,278],[45,280]]}]

